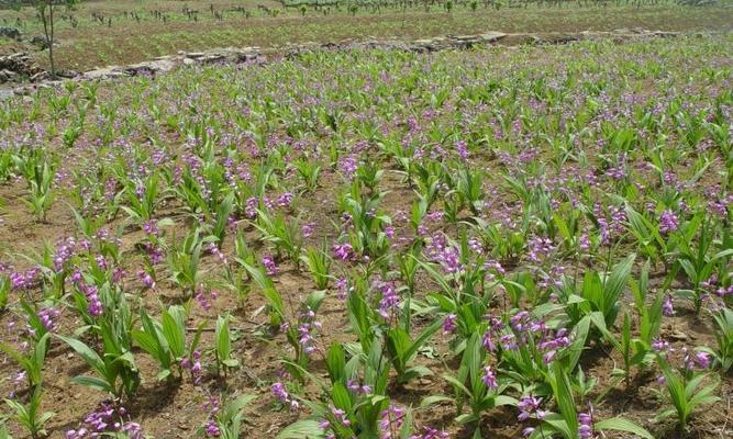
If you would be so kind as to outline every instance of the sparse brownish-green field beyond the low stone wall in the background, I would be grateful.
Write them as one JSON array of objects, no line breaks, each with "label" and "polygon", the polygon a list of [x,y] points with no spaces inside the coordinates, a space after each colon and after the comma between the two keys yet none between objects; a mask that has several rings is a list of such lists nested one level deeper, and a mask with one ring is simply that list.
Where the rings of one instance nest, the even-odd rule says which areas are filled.
[{"label": "sparse brownish-green field beyond the low stone wall in the background", "polygon": [[[1,2],[0,2],[1,3]],[[273,47],[344,38],[422,38],[486,31],[504,33],[611,31],[642,27],[719,32],[733,25],[728,0],[706,8],[674,1],[347,1],[115,0],[85,1],[60,10],[56,47],[59,68],[84,71],[225,46]],[[449,4],[449,7],[447,5]],[[196,11],[196,12],[193,12]],[[449,12],[448,12],[449,11]],[[37,50],[29,41],[43,34],[35,11],[0,10],[0,25],[21,31],[23,41],[0,38],[0,54]],[[37,38],[36,38],[37,40]],[[45,65],[45,54],[36,58]]]}]

